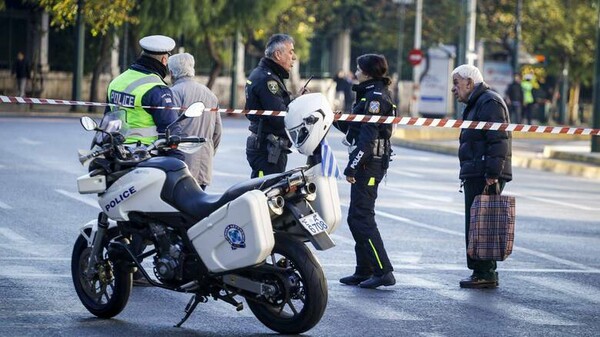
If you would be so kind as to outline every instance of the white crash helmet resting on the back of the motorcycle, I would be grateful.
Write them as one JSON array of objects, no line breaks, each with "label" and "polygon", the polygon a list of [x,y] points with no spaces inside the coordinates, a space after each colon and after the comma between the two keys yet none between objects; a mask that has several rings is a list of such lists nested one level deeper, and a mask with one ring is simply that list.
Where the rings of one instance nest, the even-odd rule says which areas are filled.
[{"label": "white crash helmet resting on the back of the motorcycle", "polygon": [[333,122],[331,105],[321,93],[302,95],[293,100],[285,115],[285,131],[304,155],[312,155]]}]

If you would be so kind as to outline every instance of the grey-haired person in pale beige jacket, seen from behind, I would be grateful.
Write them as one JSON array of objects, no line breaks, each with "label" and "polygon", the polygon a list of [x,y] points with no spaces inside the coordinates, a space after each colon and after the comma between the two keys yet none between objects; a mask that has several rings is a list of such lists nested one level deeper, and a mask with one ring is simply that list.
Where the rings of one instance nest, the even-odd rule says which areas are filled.
[{"label": "grey-haired person in pale beige jacket, seen from behind", "polygon": [[[194,57],[188,53],[175,54],[169,57],[169,71],[173,86],[173,103],[175,106],[188,107],[192,103],[202,102],[207,108],[217,108],[217,96],[205,85],[195,79]],[[198,118],[184,119],[181,123],[182,133],[206,139],[202,148],[194,154],[185,155],[185,163],[190,173],[202,189],[206,189],[212,180],[213,157],[221,141],[221,115],[218,112],[205,112]]]}]

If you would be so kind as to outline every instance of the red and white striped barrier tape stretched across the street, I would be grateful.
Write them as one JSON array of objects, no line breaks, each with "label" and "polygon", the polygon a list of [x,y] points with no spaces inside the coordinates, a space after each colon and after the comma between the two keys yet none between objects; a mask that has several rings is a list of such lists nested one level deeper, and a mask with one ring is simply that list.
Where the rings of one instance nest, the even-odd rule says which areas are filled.
[{"label": "red and white striped barrier tape stretched across the street", "polygon": [[[13,97],[0,95],[2,103],[13,104],[41,104],[41,105],[80,105],[80,106],[118,106],[112,103],[96,103],[84,101],[67,101],[58,99],[44,98],[29,98],[29,97]],[[130,107],[130,106],[125,106]],[[151,107],[142,106],[144,109],[170,109],[170,110],[185,110],[182,107]],[[206,109],[205,111],[228,113],[228,114],[244,114],[244,115],[259,115],[259,116],[279,116],[286,115],[285,111],[274,110],[243,110],[243,109]],[[499,131],[515,131],[528,133],[553,133],[566,135],[600,135],[600,129],[593,128],[574,128],[562,126],[542,126],[542,125],[527,125],[527,124],[511,124],[511,123],[492,123],[492,122],[477,122],[467,120],[456,120],[446,118],[418,118],[418,117],[391,117],[391,116],[374,116],[374,115],[351,115],[351,114],[335,114],[334,120],[359,122],[359,123],[376,123],[376,124],[398,124],[412,126],[429,126],[438,128],[458,128],[458,129],[477,129],[477,130],[499,130]]]}]

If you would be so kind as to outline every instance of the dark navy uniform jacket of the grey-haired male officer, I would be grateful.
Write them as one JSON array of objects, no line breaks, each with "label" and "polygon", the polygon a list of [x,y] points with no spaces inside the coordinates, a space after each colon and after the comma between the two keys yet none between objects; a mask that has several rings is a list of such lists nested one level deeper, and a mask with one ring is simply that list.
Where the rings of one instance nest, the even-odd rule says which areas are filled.
[{"label": "dark navy uniform jacket of the grey-haired male officer", "polygon": [[[287,111],[291,96],[283,80],[289,73],[275,61],[262,58],[258,66],[252,70],[246,81],[246,110]],[[285,137],[283,118],[273,116],[246,115],[250,120],[250,131],[258,133],[259,121],[263,120],[261,132]],[[264,137],[264,136],[263,136]]]}]

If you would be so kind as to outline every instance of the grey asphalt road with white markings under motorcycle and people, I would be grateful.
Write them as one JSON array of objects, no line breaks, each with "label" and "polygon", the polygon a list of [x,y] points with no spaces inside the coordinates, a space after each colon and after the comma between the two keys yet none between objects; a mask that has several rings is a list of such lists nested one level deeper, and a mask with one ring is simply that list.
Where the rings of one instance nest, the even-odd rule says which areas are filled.
[{"label": "grey asphalt road with white markings under motorcycle and people", "polygon": [[[221,193],[249,176],[247,121],[224,118],[215,177]],[[200,304],[182,328],[189,295],[135,288],[125,310],[93,317],[72,286],[78,229],[96,217],[93,196],[77,194],[76,156],[91,133],[77,119],[0,117],[0,336],[259,336],[272,331],[249,309]],[[342,135],[330,144],[342,168]],[[505,193],[517,197],[513,254],[499,263],[500,287],[460,289],[465,266],[463,195],[457,159],[394,149],[377,200],[377,221],[398,283],[381,290],[338,282],[353,271],[345,224],[337,246],[316,252],[329,284],[328,308],[311,336],[598,336],[600,183],[514,168]],[[293,154],[288,167],[304,158]],[[349,185],[339,181],[342,211]],[[344,216],[345,217],[345,216]]]}]

